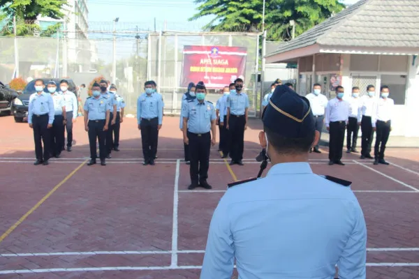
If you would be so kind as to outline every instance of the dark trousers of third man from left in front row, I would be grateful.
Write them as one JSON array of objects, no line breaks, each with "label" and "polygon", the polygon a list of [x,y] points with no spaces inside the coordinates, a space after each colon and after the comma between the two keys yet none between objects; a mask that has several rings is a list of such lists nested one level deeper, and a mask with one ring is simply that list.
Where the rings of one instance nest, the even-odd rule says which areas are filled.
[{"label": "dark trousers of third man from left in front row", "polygon": [[157,139],[159,137],[159,118],[141,119],[141,142],[142,142],[142,156],[145,161],[154,160],[157,152]]}]

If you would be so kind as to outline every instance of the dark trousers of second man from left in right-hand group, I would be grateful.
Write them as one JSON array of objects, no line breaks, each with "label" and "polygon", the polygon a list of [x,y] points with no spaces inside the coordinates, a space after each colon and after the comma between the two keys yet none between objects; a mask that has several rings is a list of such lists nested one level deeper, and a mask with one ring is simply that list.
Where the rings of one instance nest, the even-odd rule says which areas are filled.
[{"label": "dark trousers of second man from left in right-hand group", "polygon": [[339,162],[344,148],[346,121],[330,122],[329,160]]}]

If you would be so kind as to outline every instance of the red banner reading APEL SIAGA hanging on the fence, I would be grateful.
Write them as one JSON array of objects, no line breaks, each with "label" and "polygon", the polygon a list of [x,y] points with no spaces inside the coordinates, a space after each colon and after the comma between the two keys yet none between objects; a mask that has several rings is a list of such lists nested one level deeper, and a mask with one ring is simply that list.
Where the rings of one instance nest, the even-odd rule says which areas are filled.
[{"label": "red banner reading APEL SIAGA hanging on the fence", "polygon": [[247,47],[185,45],[181,87],[203,81],[207,88],[221,89],[238,77],[244,80]]}]

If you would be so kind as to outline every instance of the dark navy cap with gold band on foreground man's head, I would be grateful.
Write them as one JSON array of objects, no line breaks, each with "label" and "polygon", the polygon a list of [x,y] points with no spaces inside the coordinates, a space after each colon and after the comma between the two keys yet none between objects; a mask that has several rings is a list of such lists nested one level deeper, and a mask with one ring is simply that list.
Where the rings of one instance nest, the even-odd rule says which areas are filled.
[{"label": "dark navy cap with gold band on foreground man's head", "polygon": [[288,138],[307,137],[316,130],[309,100],[285,85],[275,89],[262,121],[273,133]]}]

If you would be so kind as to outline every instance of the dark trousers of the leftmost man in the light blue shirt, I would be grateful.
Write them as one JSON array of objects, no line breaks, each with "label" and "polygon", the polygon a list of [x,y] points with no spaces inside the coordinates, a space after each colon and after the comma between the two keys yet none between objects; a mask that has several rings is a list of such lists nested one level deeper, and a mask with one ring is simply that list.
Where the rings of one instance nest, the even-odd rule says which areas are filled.
[{"label": "dark trousers of the leftmost man in the light blue shirt", "polygon": [[[32,127],[34,129],[35,155],[36,159],[46,161],[50,158],[50,142],[51,135],[48,126],[49,116],[43,114],[40,116],[32,116]],[[42,141],[42,142],[41,142]],[[43,149],[42,149],[43,144]]]}]

